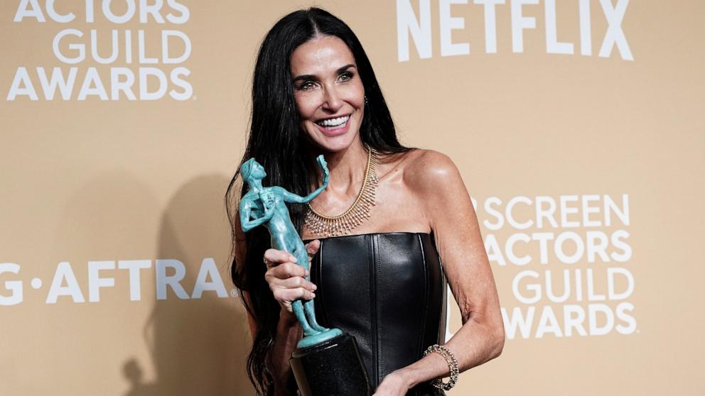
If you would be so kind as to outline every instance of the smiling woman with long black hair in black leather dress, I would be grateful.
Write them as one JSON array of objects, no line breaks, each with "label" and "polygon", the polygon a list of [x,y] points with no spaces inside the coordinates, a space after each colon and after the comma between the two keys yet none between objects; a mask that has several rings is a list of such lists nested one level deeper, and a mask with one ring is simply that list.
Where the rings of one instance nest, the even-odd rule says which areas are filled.
[{"label": "smiling woman with long black hair in black leather dress", "polygon": [[[309,207],[289,207],[301,237],[312,240],[311,274],[291,254],[271,249],[263,227],[242,233],[235,206],[228,207],[232,278],[253,338],[249,377],[261,394],[296,392],[288,360],[301,326],[291,304],[318,293],[321,325],[356,336],[375,395],[443,395],[429,381],[495,358],[504,343],[470,197],[446,155],[397,141],[355,34],[312,8],[285,16],[264,38],[242,163],[257,158],[267,170],[265,185],[303,197],[321,185],[319,154],[328,162],[328,188]],[[231,203],[236,179],[237,173],[228,187]],[[243,185],[240,197],[246,192]],[[446,279],[463,326],[444,347],[431,346],[443,344]],[[407,297],[414,303],[403,309]]]}]

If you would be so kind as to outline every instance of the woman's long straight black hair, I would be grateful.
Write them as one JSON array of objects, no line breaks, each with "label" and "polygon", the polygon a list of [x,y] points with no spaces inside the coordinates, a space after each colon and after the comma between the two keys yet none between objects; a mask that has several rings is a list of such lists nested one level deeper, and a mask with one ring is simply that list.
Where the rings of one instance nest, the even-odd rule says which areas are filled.
[{"label": "woman's long straight black hair", "polygon": [[[350,27],[318,8],[289,13],[271,28],[259,48],[252,81],[252,120],[247,149],[240,166],[249,158],[257,158],[267,172],[264,185],[279,185],[302,196],[311,192],[311,187],[318,183],[318,175],[313,158],[307,150],[308,143],[305,143],[300,131],[289,59],[294,49],[317,35],[340,38],[355,57],[358,75],[367,96],[360,126],[362,143],[370,145],[379,153],[409,150],[397,141],[394,122],[377,84],[375,72]],[[235,227],[239,227],[235,205],[235,186],[239,173],[235,172],[225,194],[227,215],[232,226],[233,253]],[[246,192],[247,183],[242,183],[240,198]],[[299,233],[303,228],[305,208],[302,204],[292,204],[289,207],[291,221]],[[271,395],[274,390],[271,347],[280,307],[264,280],[262,255],[270,247],[269,233],[263,226],[259,226],[246,233],[245,239],[247,252],[244,262],[237,262],[235,254],[232,254],[230,273],[235,286],[247,292],[249,304],[245,302],[245,307],[257,326],[253,334],[252,351],[247,358],[247,375],[259,395]]]}]

